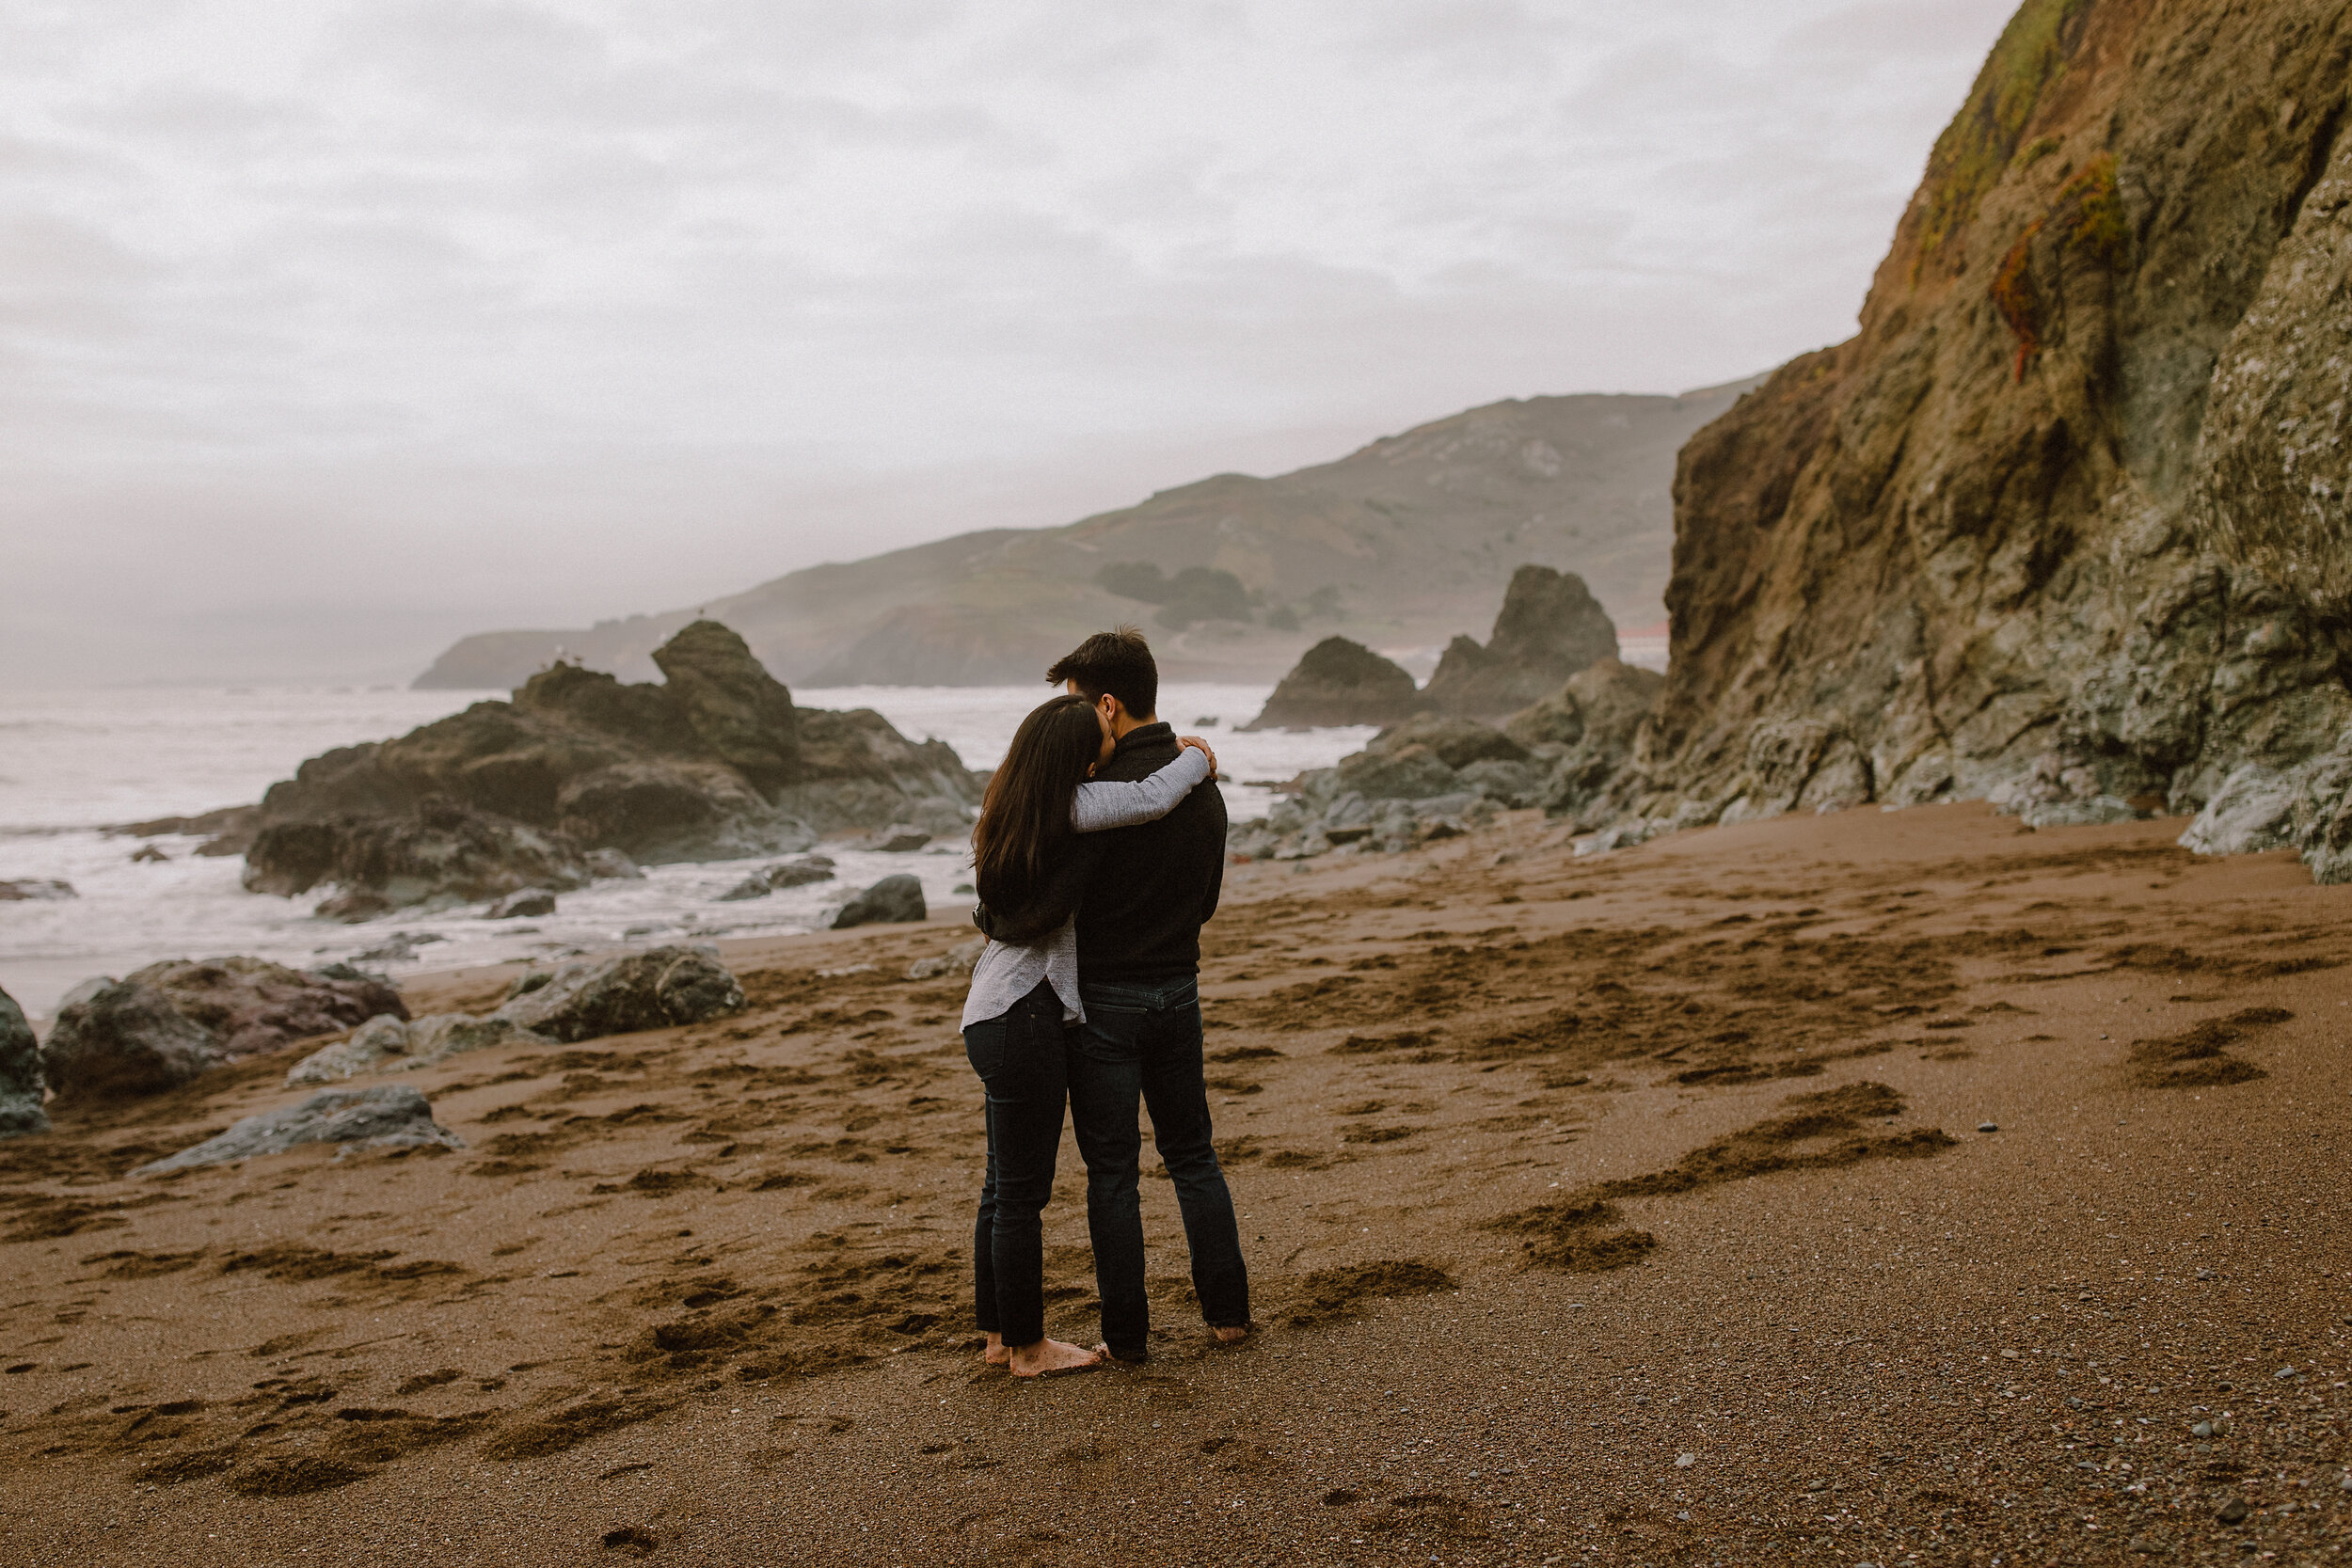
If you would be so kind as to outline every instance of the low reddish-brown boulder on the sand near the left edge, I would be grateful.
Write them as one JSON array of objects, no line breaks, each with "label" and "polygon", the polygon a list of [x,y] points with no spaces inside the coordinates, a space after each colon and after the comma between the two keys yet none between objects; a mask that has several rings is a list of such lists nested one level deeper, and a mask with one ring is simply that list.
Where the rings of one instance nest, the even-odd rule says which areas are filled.
[{"label": "low reddish-brown boulder on the sand near the left edge", "polygon": [[379,1013],[409,1016],[390,983],[348,964],[165,959],[68,992],[42,1044],[42,1065],[61,1098],[146,1095]]}]

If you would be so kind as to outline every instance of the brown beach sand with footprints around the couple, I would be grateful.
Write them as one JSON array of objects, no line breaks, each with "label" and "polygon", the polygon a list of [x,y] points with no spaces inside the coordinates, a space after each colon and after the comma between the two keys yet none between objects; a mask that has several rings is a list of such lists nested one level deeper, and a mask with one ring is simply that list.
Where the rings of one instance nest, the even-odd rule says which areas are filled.
[{"label": "brown beach sand with footprints around the couple", "polygon": [[[1576,860],[1512,818],[1237,867],[1204,994],[1261,1333],[1207,1345],[1148,1173],[1152,1359],[1049,1382],[976,1359],[962,983],[898,978],[960,914],[739,945],[715,1025],[412,1074],[454,1154],[122,1175],[299,1098],[292,1053],[61,1107],[0,1145],[0,1535],[2347,1561],[2352,889],[2178,832],[1938,806]],[[1091,1342],[1084,1241],[1065,1143],[1049,1328]]]}]

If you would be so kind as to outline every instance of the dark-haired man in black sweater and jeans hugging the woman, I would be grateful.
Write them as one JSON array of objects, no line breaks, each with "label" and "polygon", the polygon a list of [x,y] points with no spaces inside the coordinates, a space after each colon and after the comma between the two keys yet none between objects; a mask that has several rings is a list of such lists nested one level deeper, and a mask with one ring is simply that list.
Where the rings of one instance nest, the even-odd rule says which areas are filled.
[{"label": "dark-haired man in black sweater and jeans hugging the woman", "polygon": [[[1091,701],[1110,724],[1115,750],[1096,778],[1145,778],[1176,757],[1176,731],[1157,715],[1160,665],[1136,628],[1087,637],[1047,679]],[[1150,1354],[1150,1302],[1138,1100],[1176,1187],[1202,1319],[1223,1342],[1249,1333],[1249,1269],[1211,1145],[1200,1039],[1200,929],[1225,886],[1225,797],[1202,785],[1157,823],[1101,837],[1101,863],[1077,905],[1087,1023],[1070,1051],[1070,1121],[1087,1159],[1103,1349],[1141,1361]]]}]

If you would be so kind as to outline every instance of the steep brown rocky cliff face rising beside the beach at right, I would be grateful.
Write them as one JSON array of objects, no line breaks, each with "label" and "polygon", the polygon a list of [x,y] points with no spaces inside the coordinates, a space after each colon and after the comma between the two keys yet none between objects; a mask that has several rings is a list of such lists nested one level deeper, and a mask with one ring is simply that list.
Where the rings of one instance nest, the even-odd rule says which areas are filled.
[{"label": "steep brown rocky cliff face rising beside the beach at right", "polygon": [[2347,66],[2343,0],[2018,9],[1858,336],[1682,451],[1621,811],[2192,809],[2336,743],[2352,567],[2284,567],[2345,562]]}]

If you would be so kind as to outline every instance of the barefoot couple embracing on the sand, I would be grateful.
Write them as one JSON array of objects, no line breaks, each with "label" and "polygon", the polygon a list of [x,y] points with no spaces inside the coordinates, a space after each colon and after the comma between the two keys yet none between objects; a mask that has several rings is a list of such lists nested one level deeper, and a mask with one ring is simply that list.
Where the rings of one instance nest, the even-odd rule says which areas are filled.
[{"label": "barefoot couple embracing on the sand", "polygon": [[[1047,672],[971,830],[988,936],[964,1004],[964,1053],[988,1091],[988,1178],[971,1234],[988,1359],[1016,1378],[1148,1354],[1143,1138],[1176,1187],[1192,1288],[1221,1342],[1249,1333],[1249,1272],[1202,1081],[1200,929],[1225,879],[1216,755],[1160,722],[1160,668],[1134,628],[1096,632]],[[1087,1161],[1103,1342],[1044,1333],[1040,1213],[1063,1107]]]}]

